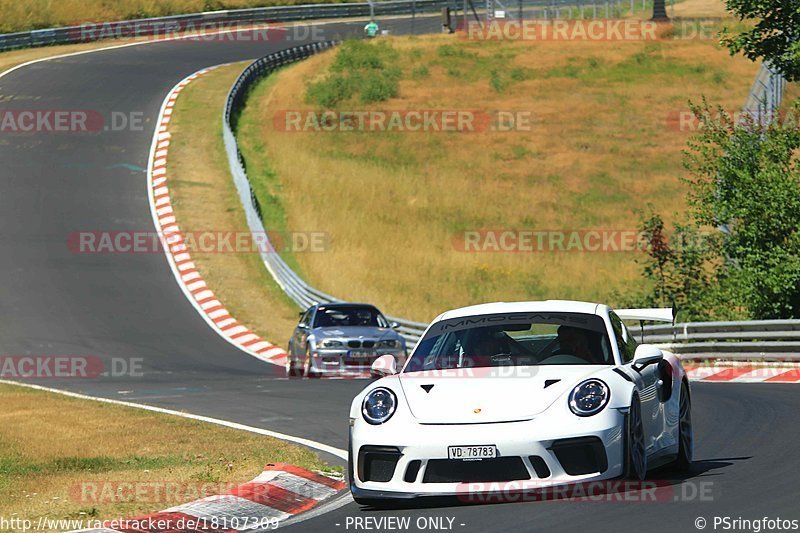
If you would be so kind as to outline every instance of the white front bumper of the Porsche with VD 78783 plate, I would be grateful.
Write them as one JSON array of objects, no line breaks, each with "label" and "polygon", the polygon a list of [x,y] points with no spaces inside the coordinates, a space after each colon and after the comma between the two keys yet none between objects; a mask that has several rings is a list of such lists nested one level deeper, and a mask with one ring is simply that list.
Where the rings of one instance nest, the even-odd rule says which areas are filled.
[{"label": "white front bumper of the Porsche with VD 78783 plate", "polygon": [[[397,432],[388,430],[389,424],[384,428],[358,422],[351,428],[350,442],[350,488],[356,498],[469,499],[611,479],[623,470],[625,415],[616,409],[560,427],[533,419],[494,424],[415,424]],[[484,459],[490,462],[481,466],[448,459],[448,446],[487,444],[497,447],[498,459],[502,460]],[[380,475],[375,474],[375,459],[370,458],[376,453],[384,454],[383,464],[378,466]],[[396,460],[393,469],[386,466],[387,459],[389,463]],[[392,470],[391,475],[386,474],[387,469]],[[380,480],[373,479],[376,477]]]}]

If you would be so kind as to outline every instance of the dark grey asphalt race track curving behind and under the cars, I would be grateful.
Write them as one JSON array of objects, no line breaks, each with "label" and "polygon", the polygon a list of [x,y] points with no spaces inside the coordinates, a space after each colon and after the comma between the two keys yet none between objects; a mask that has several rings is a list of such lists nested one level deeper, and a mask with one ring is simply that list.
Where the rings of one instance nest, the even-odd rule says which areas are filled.
[{"label": "dark grey asphalt race track curving behind and under the cars", "polygon": [[[362,24],[327,25],[326,38]],[[436,25],[417,20],[415,29]],[[203,67],[296,44],[161,42],[37,63],[0,78],[3,109],[145,118],[139,131],[0,135],[0,353],[141,358],[141,377],[39,383],[346,447],[348,406],[364,381],[288,381],[282,368],[238,351],[189,304],[163,254],[76,254],[67,247],[75,231],[153,231],[144,167],[170,88]],[[696,464],[683,478],[652,474],[671,487],[673,497],[664,501],[437,502],[390,511],[350,503],[289,528],[357,531],[365,529],[354,517],[389,516],[410,517],[410,530],[422,524],[418,518],[445,517],[456,531],[695,531],[698,517],[708,530],[714,516],[798,519],[797,392],[794,385],[695,384]]]}]

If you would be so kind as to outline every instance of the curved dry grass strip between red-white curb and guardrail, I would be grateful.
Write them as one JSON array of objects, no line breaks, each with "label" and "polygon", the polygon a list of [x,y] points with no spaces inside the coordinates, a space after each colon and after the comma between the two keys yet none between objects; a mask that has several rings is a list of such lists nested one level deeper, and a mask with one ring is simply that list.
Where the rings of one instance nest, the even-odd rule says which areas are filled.
[{"label": "curved dry grass strip between red-white curb and guardrail", "polygon": [[[225,96],[244,68],[221,67],[181,93],[172,115],[169,181],[172,205],[185,232],[248,233],[228,169],[220,124]],[[274,283],[258,254],[193,253],[197,269],[237,320],[285,345],[297,310]]]}]

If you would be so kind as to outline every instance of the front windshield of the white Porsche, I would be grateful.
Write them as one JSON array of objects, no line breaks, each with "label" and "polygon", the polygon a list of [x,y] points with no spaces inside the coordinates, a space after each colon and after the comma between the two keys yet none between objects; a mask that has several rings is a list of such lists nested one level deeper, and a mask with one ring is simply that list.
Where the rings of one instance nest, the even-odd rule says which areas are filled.
[{"label": "front windshield of the white Porsche", "polygon": [[434,324],[404,372],[613,362],[605,322],[597,315],[514,313]]}]

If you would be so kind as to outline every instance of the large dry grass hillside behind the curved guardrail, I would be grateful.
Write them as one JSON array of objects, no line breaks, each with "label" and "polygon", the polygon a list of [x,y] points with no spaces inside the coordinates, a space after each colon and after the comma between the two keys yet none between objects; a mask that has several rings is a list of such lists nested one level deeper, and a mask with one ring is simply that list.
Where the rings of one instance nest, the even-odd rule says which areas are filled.
[{"label": "large dry grass hillside behind the curved guardrail", "polygon": [[[279,110],[308,109],[306,85],[333,53],[278,74],[244,121],[248,165],[274,169],[292,229],[323,229],[333,248],[297,257],[318,288],[420,320],[491,300],[566,297],[616,303],[640,283],[635,253],[456,251],[465,229],[635,229],[637,210],[685,208],[682,150],[689,132],[668,114],[702,95],[744,102],[757,70],[713,41],[474,43],[449,36],[388,42],[401,52],[400,97],[361,109],[532,110],[515,133],[281,133]],[[453,45],[477,59],[441,57]],[[334,52],[335,53],[335,52]],[[487,58],[532,73],[492,90]],[[429,74],[410,73],[425,65]],[[252,135],[251,135],[252,136]],[[248,150],[263,144],[263,150]],[[267,161],[268,163],[262,163]],[[251,178],[253,176],[251,175]],[[255,179],[258,179],[256,176]]]}]

